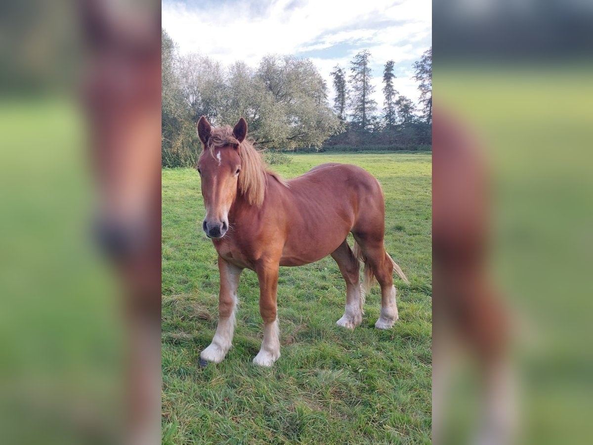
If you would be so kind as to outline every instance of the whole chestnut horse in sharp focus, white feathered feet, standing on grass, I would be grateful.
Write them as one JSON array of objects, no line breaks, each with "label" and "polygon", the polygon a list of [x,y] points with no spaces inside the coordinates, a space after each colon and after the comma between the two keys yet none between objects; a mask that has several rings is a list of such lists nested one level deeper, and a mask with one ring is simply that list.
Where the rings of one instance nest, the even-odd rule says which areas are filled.
[{"label": "whole chestnut horse in sharp focus, white feathered feet, standing on grass", "polygon": [[[381,286],[377,329],[398,319],[393,271],[409,283],[385,251],[385,204],[381,185],[370,173],[348,164],[322,164],[284,180],[267,170],[247,139],[247,122],[212,128],[197,123],[202,152],[197,163],[206,216],[202,229],[218,252],[219,320],[212,343],[200,353],[200,366],[219,363],[231,348],[241,271],[256,272],[262,347],[253,363],[269,367],[280,357],[276,290],[279,266],[301,266],[327,255],[346,281],[346,307],[337,325],[362,322],[365,294],[374,279]],[[353,249],[347,243],[352,233]],[[359,282],[364,263],[364,280]]]}]

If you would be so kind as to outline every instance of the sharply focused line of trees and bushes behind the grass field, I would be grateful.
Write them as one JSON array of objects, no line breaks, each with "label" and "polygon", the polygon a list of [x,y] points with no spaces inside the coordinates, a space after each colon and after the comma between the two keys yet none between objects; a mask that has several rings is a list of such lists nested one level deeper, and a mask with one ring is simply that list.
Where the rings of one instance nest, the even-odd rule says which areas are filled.
[{"label": "sharply focused line of trees and bushes behind the grass field", "polygon": [[[162,30],[162,165],[195,165],[200,150],[196,123],[202,115],[213,125],[234,123],[243,116],[256,144],[276,150],[319,150],[351,141],[361,147],[369,142],[403,147],[400,133],[417,125],[420,116],[412,101],[398,96],[392,82],[391,90],[384,90],[385,97],[391,97],[385,106],[385,116],[390,117],[378,117],[370,97],[368,61],[368,52],[359,53],[348,80],[342,68],[331,73],[337,91],[331,106],[327,84],[309,59],[268,55],[256,68],[242,61],[225,67],[206,56],[179,55]],[[432,76],[430,84],[425,80],[429,88],[431,84]],[[432,97],[430,92],[425,96]],[[430,118],[423,119],[429,127]],[[408,145],[430,143],[429,137],[408,139]]]}]

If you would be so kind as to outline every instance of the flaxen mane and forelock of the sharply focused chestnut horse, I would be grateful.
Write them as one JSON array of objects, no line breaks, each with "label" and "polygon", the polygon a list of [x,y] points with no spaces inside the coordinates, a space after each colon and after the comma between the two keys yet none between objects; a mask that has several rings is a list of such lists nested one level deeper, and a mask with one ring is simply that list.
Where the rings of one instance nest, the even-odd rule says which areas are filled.
[{"label": "flaxen mane and forelock of the sharply focused chestnut horse", "polygon": [[266,195],[267,176],[273,177],[283,186],[288,187],[288,183],[269,169],[262,158],[262,152],[253,147],[253,141],[249,138],[239,142],[232,134],[232,128],[227,126],[212,128],[208,143],[202,150],[203,156],[206,152],[214,156],[216,148],[227,147],[237,148],[241,158],[241,171],[239,172],[239,190],[247,198],[251,205],[261,206]]}]

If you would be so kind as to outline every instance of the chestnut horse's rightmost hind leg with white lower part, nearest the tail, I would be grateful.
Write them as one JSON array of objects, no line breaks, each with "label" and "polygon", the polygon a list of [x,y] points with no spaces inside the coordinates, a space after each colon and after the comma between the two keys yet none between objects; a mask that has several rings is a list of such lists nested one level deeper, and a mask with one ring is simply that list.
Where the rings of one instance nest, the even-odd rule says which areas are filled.
[{"label": "chestnut horse's rightmost hind leg with white lower part, nearest the tail", "polygon": [[[372,275],[375,275],[381,286],[381,314],[375,328],[389,329],[398,319],[396,303],[396,287],[393,285],[394,263],[391,257],[385,252],[382,236],[373,239],[355,234],[356,242],[362,250],[365,261],[365,284],[372,282]],[[370,287],[370,286],[369,286]],[[368,292],[369,289],[364,289]]]}]

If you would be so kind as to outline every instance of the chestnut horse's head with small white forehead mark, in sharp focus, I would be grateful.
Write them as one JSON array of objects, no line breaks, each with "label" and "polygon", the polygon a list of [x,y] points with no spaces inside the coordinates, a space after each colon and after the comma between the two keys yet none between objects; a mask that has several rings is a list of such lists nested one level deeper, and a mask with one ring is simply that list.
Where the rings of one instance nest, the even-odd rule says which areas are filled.
[{"label": "chestnut horse's head with small white forehead mark, in sharp focus", "polygon": [[222,238],[228,230],[228,212],[237,197],[241,172],[239,147],[247,135],[247,122],[241,117],[232,134],[227,133],[224,129],[212,129],[204,116],[197,123],[203,144],[197,165],[206,207],[202,228],[209,238]]}]

